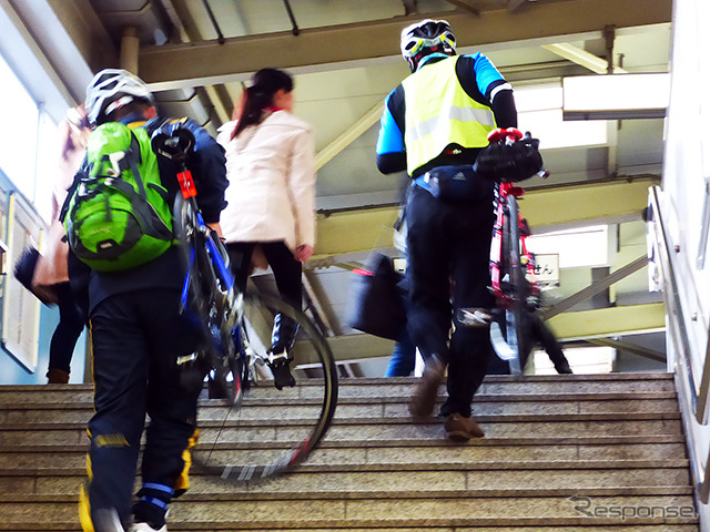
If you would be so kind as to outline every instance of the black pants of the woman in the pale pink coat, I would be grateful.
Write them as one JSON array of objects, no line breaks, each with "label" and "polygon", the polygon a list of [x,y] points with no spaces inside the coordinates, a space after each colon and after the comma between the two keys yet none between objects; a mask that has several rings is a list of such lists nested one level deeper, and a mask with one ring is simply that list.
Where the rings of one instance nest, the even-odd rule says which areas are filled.
[{"label": "black pants of the woman in the pale pink coat", "polygon": [[303,304],[302,266],[283,242],[234,242],[226,245],[237,288],[242,291],[246,289],[246,279],[252,272],[252,253],[254,253],[256,245],[262,248],[266,260],[268,260],[281,297],[301,310]]}]

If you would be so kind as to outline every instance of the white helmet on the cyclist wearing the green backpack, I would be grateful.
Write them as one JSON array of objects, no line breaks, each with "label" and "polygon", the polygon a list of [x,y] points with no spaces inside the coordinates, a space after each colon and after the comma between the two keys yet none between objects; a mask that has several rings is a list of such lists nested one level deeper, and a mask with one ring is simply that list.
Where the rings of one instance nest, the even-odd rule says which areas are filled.
[{"label": "white helmet on the cyclist wearing the green backpack", "polygon": [[87,86],[87,115],[92,125],[101,125],[113,111],[135,99],[154,105],[153,94],[139,76],[128,70],[104,69]]}]

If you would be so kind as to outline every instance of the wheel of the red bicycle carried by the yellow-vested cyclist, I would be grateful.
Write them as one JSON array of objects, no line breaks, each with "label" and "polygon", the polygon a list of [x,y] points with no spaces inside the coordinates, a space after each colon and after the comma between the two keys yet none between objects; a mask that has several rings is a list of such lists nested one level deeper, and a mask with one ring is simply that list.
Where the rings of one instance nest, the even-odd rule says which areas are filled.
[{"label": "wheel of the red bicycle carried by the yellow-vested cyclist", "polygon": [[520,226],[518,202],[514,195],[507,197],[507,216],[503,224],[504,239],[504,276],[506,279],[505,294],[508,306],[505,310],[505,338],[515,354],[508,364],[513,375],[521,375],[528,354],[525,352],[527,341],[524,334],[525,313],[525,268],[520,262]]}]

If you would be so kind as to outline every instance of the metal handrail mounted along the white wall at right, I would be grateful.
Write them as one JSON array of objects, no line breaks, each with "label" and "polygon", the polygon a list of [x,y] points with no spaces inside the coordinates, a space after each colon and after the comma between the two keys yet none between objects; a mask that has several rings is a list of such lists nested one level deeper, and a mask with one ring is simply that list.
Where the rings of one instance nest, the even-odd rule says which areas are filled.
[{"label": "metal handrail mounted along the white wall at right", "polygon": [[[676,367],[678,369],[678,380],[683,387],[679,390],[679,400],[683,412],[691,412],[694,420],[700,424],[707,424],[708,421],[708,392],[710,385],[710,352],[706,352],[704,365],[701,376],[700,389],[696,382],[696,376],[691,362],[692,348],[688,338],[688,329],[683,315],[680,294],[678,290],[674,254],[668,250],[668,232],[663,223],[660,202],[659,187],[653,186],[650,190],[650,215],[652,216],[653,228],[653,249],[659,253],[659,257],[655,263],[661,269],[663,279],[663,299],[666,300],[667,313],[671,317],[669,319],[669,331],[673,345],[676,346],[677,359]],[[710,344],[708,345],[710,349]],[[684,392],[681,392],[684,391]],[[690,401],[688,401],[690,399]],[[689,403],[690,402],[690,403]],[[683,421],[688,423],[690,420],[683,416]],[[688,454],[690,458],[690,467],[696,483],[696,491],[699,500],[704,504],[710,500],[710,453],[704,460],[704,467],[700,462],[700,451],[693,436],[692,430],[686,430],[688,440]]]}]

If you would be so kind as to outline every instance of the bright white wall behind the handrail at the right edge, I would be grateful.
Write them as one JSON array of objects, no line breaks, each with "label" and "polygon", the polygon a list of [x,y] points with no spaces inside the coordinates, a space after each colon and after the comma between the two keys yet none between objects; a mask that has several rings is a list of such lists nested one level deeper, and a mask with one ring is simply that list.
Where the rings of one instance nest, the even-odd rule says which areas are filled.
[{"label": "bright white wall behind the handrail at the right edge", "polygon": [[[674,0],[671,53],[671,96],[666,129],[661,214],[677,260],[677,282],[688,329],[693,374],[700,380],[708,346],[710,257],[697,264],[706,180],[710,178],[710,2]],[[669,335],[670,338],[670,335]],[[669,360],[677,352],[669,340]],[[669,368],[673,370],[673,368]],[[686,417],[690,439],[704,468],[710,427]],[[710,531],[710,508],[700,505],[701,529]]]}]

